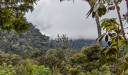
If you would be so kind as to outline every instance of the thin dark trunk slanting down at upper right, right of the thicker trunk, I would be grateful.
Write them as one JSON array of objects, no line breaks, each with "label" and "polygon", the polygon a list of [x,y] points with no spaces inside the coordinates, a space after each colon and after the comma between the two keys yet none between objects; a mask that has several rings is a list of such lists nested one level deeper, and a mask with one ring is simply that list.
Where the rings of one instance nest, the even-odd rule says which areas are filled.
[{"label": "thin dark trunk slanting down at upper right, right of the thicker trunk", "polygon": [[124,31],[123,23],[122,23],[122,20],[121,20],[121,14],[120,14],[120,9],[118,7],[118,3],[117,3],[116,0],[114,0],[114,3],[115,3],[116,11],[117,11],[117,14],[118,14],[118,18],[119,18],[119,21],[120,21],[121,34],[123,35],[124,39],[127,41],[127,39],[125,37],[125,31]]}]

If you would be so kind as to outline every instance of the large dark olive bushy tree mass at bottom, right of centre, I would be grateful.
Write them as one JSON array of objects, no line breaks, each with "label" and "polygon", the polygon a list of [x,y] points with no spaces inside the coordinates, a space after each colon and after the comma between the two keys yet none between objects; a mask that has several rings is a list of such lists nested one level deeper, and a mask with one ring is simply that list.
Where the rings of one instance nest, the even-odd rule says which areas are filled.
[{"label": "large dark olive bushy tree mass at bottom, right of centre", "polygon": [[109,66],[101,63],[102,48],[99,45],[85,47],[74,53],[68,61],[62,61],[59,67],[62,75],[111,75]]}]

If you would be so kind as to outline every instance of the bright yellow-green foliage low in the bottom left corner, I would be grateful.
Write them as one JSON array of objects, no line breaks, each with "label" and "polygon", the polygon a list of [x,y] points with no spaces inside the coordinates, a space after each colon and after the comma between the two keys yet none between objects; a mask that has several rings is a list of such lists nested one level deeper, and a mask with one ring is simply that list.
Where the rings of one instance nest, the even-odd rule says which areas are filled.
[{"label": "bright yellow-green foliage low in the bottom left corner", "polygon": [[51,75],[51,71],[44,65],[38,65],[32,60],[26,59],[14,66],[6,63],[1,64],[0,75]]}]

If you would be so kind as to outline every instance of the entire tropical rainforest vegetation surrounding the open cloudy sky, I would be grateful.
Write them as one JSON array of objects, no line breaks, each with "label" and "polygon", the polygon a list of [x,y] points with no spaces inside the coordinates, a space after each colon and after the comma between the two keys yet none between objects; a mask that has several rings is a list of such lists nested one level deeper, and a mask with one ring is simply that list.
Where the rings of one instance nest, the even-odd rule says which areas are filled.
[{"label": "entire tropical rainforest vegetation surrounding the open cloudy sky", "polygon": [[[128,75],[128,0],[83,1],[96,21],[95,40],[51,40],[25,17],[38,0],[0,0],[0,75]],[[103,17],[110,11],[117,18]]]}]

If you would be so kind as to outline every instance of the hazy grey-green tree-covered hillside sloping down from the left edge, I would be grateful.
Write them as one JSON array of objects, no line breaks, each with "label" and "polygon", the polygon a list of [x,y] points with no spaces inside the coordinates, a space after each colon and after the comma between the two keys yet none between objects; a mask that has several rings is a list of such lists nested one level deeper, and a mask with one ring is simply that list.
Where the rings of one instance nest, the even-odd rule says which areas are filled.
[{"label": "hazy grey-green tree-covered hillside sloping down from the left edge", "polygon": [[49,37],[40,33],[40,31],[31,26],[25,33],[2,31],[0,32],[0,49],[5,52],[14,52],[24,54],[25,50],[45,51],[48,49]]}]

